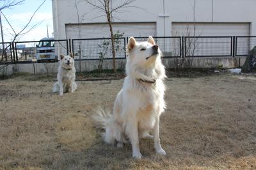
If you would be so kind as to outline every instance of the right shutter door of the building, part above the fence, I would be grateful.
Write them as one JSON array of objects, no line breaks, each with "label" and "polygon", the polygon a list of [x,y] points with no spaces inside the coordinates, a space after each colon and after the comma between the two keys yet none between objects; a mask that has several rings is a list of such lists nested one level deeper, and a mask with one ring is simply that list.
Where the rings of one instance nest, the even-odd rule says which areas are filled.
[{"label": "right shutter door of the building, part above the fence", "polygon": [[[193,23],[172,23],[172,36],[194,36]],[[250,36],[250,23],[196,23],[195,36]]]}]

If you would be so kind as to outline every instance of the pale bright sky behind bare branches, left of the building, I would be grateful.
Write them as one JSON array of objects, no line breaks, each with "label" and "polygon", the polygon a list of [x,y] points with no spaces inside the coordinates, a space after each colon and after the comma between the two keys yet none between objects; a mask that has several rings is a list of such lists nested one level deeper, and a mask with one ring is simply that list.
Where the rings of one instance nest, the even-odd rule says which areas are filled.
[{"label": "pale bright sky behind bare branches, left of the building", "polygon": [[[17,0],[19,1],[19,0]],[[4,9],[2,12],[9,20],[10,24],[12,25],[13,29],[16,33],[22,30],[24,26],[28,23],[29,19],[35,12],[36,8],[40,6],[43,0],[26,0],[19,6],[13,6],[9,9]],[[2,3],[0,3],[2,6]],[[10,42],[13,40],[13,31],[11,27],[4,19],[4,16],[1,15],[2,25],[3,25],[3,35],[4,35],[4,42]],[[40,22],[40,24],[38,24]],[[53,24],[52,24],[52,1],[46,0],[43,6],[36,12],[35,16],[31,20],[28,28],[24,31],[26,33],[32,26],[34,27],[29,33],[22,36],[19,41],[36,41],[40,40],[47,36],[47,24],[49,30],[49,36],[53,33]],[[1,41],[1,38],[0,38]]]}]

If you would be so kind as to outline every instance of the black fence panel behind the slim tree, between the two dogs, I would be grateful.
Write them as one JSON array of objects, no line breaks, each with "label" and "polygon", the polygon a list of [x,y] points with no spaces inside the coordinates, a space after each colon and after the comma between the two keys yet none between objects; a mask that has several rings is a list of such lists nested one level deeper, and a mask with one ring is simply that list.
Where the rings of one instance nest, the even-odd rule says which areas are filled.
[{"label": "black fence panel behind the slim tree, between the two dogs", "polygon": [[[125,38],[115,39],[116,59],[125,59]],[[73,39],[72,52],[75,59],[112,59],[111,38]]]}]

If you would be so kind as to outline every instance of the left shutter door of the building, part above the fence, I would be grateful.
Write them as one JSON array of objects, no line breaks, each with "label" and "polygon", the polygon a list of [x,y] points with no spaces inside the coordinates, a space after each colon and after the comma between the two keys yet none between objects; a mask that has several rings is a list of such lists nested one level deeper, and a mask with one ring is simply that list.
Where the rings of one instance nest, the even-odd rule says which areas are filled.
[{"label": "left shutter door of the building, part above the fence", "polygon": [[[118,23],[113,24],[113,33],[119,31],[124,36],[156,36],[156,23]],[[109,38],[109,26],[107,24],[81,24],[80,38]],[[79,38],[77,24],[66,25],[67,39]]]}]

